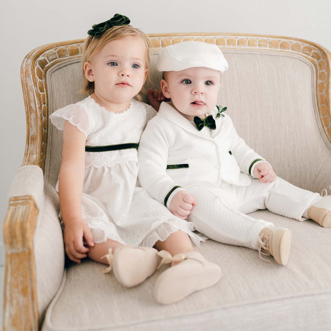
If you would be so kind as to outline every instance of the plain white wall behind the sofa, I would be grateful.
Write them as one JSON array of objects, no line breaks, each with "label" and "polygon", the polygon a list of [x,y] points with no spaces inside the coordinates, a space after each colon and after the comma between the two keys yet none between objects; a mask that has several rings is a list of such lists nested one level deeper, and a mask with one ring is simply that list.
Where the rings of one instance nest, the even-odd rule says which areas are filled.
[{"label": "plain white wall behind the sofa", "polygon": [[25,147],[21,63],[40,45],[85,38],[93,24],[116,13],[126,15],[146,33],[271,34],[307,39],[331,50],[330,0],[4,0],[0,14],[0,264],[7,194]]}]

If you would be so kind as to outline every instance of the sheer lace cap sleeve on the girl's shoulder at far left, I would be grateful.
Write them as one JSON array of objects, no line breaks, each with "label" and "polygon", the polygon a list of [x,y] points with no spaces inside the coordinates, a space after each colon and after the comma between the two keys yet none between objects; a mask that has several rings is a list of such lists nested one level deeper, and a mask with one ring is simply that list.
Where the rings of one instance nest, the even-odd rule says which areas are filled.
[{"label": "sheer lace cap sleeve on the girl's shoulder at far left", "polygon": [[84,133],[85,137],[90,133],[90,124],[86,109],[79,104],[68,105],[54,112],[49,117],[53,125],[59,130],[63,130],[66,120],[70,124],[77,127],[77,129]]}]

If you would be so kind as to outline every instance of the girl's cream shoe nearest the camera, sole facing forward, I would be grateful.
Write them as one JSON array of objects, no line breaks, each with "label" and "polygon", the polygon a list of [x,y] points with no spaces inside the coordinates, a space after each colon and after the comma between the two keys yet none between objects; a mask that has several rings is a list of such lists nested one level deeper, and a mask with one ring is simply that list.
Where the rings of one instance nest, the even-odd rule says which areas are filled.
[{"label": "girl's cream shoe nearest the camera, sole facing forward", "polygon": [[215,285],[221,277],[221,269],[207,261],[198,252],[188,252],[171,256],[167,251],[160,251],[164,263],[179,262],[166,269],[157,279],[154,298],[160,304],[171,304],[189,294]]}]

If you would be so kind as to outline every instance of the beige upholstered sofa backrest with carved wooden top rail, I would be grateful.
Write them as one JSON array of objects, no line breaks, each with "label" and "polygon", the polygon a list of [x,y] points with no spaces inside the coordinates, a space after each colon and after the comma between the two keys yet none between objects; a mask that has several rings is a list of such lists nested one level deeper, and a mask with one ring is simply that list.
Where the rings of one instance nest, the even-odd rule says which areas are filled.
[{"label": "beige upholstered sofa backrest with carved wooden top rail", "polygon": [[[147,88],[160,86],[162,73],[155,66],[162,47],[193,38],[221,47],[229,69],[222,75],[218,105],[227,106],[226,113],[246,143],[272,164],[278,176],[294,185],[316,192],[330,185],[325,174],[318,175],[331,163],[329,53],[290,38],[155,35],[151,36],[155,47],[151,50],[152,83]],[[48,115],[86,97],[76,94],[82,75],[81,43],[51,51],[58,55],[61,48],[61,54],[69,53],[70,47],[77,54],[62,61],[58,56],[44,75]],[[48,120],[45,175],[52,185],[58,178],[61,154],[62,132]]]}]

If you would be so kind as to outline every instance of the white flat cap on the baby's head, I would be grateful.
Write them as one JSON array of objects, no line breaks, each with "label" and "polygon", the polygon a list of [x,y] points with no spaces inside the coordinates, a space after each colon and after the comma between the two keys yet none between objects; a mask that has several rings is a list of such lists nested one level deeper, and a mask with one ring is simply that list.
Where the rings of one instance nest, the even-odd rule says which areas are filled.
[{"label": "white flat cap on the baby's head", "polygon": [[224,72],[229,68],[223,53],[214,44],[185,41],[165,47],[159,54],[158,71],[180,71],[204,67]]}]

